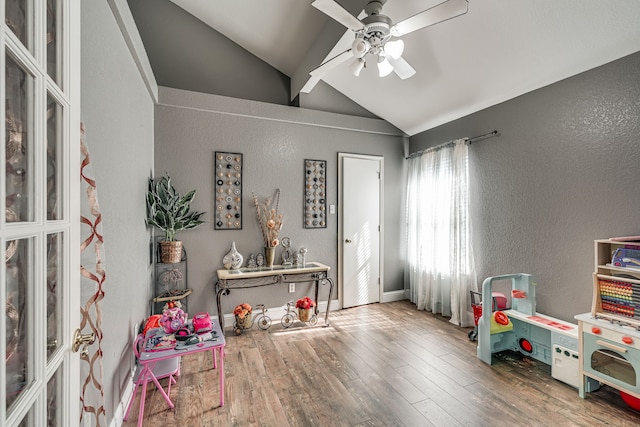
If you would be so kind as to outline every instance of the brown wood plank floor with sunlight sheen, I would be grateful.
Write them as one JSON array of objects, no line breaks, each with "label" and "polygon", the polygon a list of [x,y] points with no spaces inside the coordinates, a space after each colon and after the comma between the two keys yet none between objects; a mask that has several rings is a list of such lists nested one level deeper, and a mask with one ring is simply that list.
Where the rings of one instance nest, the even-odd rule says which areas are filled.
[{"label": "brown wood plank floor with sunlight sheen", "polygon": [[[267,313],[268,314],[268,313]],[[476,358],[469,329],[409,301],[333,312],[330,327],[279,319],[227,336],[225,406],[209,354],[183,357],[168,409],[147,391],[146,426],[637,426],[617,391],[580,399],[520,353]],[[320,322],[321,323],[321,322]],[[164,383],[163,383],[164,384]],[[137,422],[139,397],[130,419]]]}]

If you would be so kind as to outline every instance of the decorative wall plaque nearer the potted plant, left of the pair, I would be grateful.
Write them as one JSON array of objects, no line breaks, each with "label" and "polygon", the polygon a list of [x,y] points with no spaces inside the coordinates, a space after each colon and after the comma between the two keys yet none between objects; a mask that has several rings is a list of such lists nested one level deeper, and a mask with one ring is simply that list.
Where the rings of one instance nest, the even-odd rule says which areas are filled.
[{"label": "decorative wall plaque nearer the potted plant, left of the pair", "polygon": [[242,154],[215,153],[216,230],[242,228]]}]

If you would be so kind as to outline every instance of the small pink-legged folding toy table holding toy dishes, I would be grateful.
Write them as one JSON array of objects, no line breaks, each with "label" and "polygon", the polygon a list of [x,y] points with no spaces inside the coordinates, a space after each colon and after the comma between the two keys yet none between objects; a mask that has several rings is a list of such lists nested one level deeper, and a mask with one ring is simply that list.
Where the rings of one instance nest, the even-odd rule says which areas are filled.
[{"label": "small pink-legged folding toy table holding toy dishes", "polygon": [[[212,341],[204,341],[199,344],[193,344],[185,347],[184,349],[172,349],[172,350],[162,350],[162,351],[145,351],[144,349],[140,352],[140,364],[143,367],[141,378],[142,378],[142,394],[140,395],[140,409],[138,410],[138,427],[142,426],[142,419],[144,417],[144,401],[145,396],[147,394],[147,383],[150,379],[156,385],[162,397],[167,402],[170,408],[174,408],[174,404],[165,392],[164,388],[158,382],[158,379],[153,375],[154,366],[161,360],[170,359],[172,357],[181,357],[187,354],[199,353],[201,351],[211,351],[211,356],[213,357],[213,368],[220,369],[220,406],[224,406],[224,346],[225,339],[222,331],[220,330],[220,325],[217,320],[211,319],[211,323],[213,324],[213,330],[217,332],[217,337]],[[158,329],[150,329],[147,332],[147,337],[155,335],[158,333]],[[216,357],[216,353],[220,357]],[[217,360],[220,361],[220,366],[218,366]],[[135,396],[131,397],[135,399]]]}]

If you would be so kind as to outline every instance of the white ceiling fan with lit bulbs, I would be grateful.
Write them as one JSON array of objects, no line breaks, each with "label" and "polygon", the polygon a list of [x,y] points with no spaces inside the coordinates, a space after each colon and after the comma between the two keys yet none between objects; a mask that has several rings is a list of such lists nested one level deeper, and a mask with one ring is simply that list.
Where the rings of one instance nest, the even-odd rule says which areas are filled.
[{"label": "white ceiling fan with lit bulbs", "polygon": [[[388,16],[381,14],[386,0],[373,0],[364,8],[367,16],[360,21],[334,0],[314,0],[311,5],[335,19],[355,33],[351,48],[324,62],[309,74],[322,77],[331,68],[353,59],[349,69],[359,76],[366,66],[366,56],[371,55],[378,65],[380,77],[395,72],[401,79],[408,79],[416,70],[402,58],[404,42],[399,37],[413,31],[437,24],[467,13],[467,0],[446,0],[436,6],[393,24]],[[391,40],[398,38],[397,40]]]}]

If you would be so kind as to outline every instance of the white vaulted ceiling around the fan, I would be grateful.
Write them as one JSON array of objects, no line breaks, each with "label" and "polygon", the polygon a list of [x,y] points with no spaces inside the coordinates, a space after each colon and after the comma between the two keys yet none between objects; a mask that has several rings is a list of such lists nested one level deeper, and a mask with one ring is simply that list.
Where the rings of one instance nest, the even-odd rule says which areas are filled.
[{"label": "white vaulted ceiling around the fan", "polygon": [[[171,1],[289,76],[292,98],[354,39],[312,0]],[[386,0],[382,13],[398,22],[442,1]],[[339,3],[365,16],[366,0]],[[640,51],[640,2],[469,0],[466,14],[402,39],[411,78],[379,77],[375,66],[356,77],[346,61],[322,80],[415,135]]]}]

